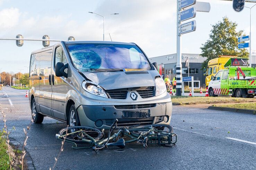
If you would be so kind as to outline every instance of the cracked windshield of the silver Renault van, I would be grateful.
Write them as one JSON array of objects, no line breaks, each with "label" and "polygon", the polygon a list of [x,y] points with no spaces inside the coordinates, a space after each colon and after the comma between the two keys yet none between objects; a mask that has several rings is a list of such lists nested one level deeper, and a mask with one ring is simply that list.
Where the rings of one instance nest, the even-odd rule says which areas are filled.
[{"label": "cracked windshield of the silver Renault van", "polygon": [[80,71],[144,71],[151,66],[136,45],[128,44],[69,44],[74,66]]}]

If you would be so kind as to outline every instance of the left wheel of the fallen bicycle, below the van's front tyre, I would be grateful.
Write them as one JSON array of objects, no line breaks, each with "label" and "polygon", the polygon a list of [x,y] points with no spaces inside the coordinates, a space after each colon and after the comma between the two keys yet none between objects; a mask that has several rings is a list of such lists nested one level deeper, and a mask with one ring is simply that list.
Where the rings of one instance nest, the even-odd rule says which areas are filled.
[{"label": "left wheel of the fallen bicycle, below the van's front tyre", "polygon": [[85,126],[72,126],[61,129],[59,135],[62,137],[59,137],[59,139],[65,139],[74,143],[92,143],[92,140],[84,133],[94,138],[95,141],[99,141],[104,137],[104,133],[99,129]]}]

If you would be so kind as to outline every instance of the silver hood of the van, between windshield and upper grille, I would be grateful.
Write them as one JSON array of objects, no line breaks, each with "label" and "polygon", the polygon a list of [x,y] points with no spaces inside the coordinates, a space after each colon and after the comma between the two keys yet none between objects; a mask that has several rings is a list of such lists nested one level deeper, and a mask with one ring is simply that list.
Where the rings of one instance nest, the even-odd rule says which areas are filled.
[{"label": "silver hood of the van, between windshield and upper grille", "polygon": [[159,76],[156,70],[82,73],[105,90],[155,86],[155,77]]}]

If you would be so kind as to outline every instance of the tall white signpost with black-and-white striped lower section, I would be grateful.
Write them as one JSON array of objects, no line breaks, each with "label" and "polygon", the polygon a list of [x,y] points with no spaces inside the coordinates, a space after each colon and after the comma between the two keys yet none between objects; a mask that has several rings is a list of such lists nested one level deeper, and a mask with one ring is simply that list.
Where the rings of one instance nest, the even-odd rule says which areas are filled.
[{"label": "tall white signpost with black-and-white striped lower section", "polygon": [[180,4],[181,0],[177,0],[177,56],[176,56],[176,96],[181,96],[181,34],[180,29]]}]

